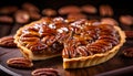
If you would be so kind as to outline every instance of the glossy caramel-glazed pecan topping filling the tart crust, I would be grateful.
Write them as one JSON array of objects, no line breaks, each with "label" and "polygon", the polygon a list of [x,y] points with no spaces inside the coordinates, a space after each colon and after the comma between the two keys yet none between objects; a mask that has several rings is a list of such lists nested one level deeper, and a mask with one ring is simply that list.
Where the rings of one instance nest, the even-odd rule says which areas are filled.
[{"label": "glossy caramel-glazed pecan topping filling the tart crust", "polygon": [[40,22],[24,28],[19,40],[33,54],[51,55],[62,51],[62,57],[72,58],[104,53],[119,44],[114,25],[96,20],[69,22],[63,18],[44,18]]}]

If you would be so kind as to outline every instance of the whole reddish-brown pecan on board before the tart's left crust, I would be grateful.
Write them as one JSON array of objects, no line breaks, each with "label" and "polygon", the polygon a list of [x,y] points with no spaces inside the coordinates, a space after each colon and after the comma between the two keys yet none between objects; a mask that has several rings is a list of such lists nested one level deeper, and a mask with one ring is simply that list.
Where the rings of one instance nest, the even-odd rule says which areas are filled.
[{"label": "whole reddish-brown pecan on board before the tart's left crust", "polygon": [[14,57],[7,61],[8,66],[16,68],[30,68],[33,66],[32,62],[24,57]]}]

